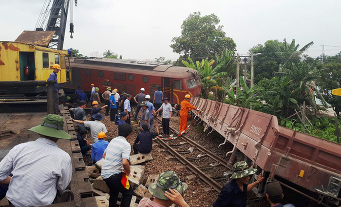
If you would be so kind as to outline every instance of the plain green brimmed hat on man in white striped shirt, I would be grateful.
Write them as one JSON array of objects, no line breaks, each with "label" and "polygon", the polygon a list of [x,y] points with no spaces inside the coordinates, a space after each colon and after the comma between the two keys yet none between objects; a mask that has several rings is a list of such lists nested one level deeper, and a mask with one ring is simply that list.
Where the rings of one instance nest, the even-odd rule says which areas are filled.
[{"label": "plain green brimmed hat on man in white striped shirt", "polygon": [[63,130],[63,127],[64,120],[61,116],[48,114],[43,118],[40,125],[30,128],[29,131],[33,131],[47,137],[70,140],[71,135],[66,133]]}]

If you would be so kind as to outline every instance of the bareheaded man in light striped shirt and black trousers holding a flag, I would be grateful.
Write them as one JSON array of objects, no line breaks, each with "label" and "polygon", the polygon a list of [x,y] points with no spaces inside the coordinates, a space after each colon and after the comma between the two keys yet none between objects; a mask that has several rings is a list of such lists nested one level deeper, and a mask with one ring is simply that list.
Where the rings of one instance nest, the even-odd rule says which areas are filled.
[{"label": "bareheaded man in light striped shirt and black trousers holding a flag", "polygon": [[110,141],[103,154],[104,164],[101,175],[110,189],[109,207],[116,207],[118,192],[123,195],[120,207],[130,207],[133,189],[125,188],[121,184],[121,179],[122,175],[130,174],[129,156],[132,148],[128,140],[132,131],[130,124],[118,125],[118,137]]}]

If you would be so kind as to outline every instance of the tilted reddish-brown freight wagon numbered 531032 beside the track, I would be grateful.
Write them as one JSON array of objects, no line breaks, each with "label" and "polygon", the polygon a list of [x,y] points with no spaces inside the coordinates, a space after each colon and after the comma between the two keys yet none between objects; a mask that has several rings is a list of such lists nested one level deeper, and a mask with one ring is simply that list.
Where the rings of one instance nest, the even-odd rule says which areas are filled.
[{"label": "tilted reddish-brown freight wagon numbered 531032 beside the track", "polygon": [[[270,114],[196,97],[190,102],[202,109],[205,131],[211,127],[234,145],[227,152],[230,166],[246,160],[266,180],[275,179],[308,201],[341,204],[340,144],[279,126]],[[263,187],[258,190],[264,192]],[[296,201],[297,206],[309,205],[304,199]]]}]

